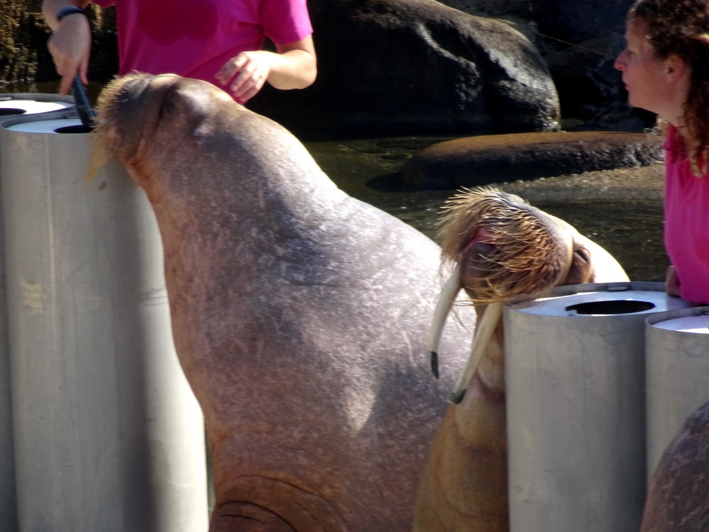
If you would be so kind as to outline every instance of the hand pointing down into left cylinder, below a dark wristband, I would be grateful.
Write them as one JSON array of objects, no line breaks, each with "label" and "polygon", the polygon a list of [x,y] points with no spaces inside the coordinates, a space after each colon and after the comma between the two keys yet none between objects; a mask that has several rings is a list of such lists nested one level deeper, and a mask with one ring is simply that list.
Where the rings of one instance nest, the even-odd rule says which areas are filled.
[{"label": "hand pointing down into left cylinder, below a dark wristband", "polygon": [[50,36],[47,48],[52,54],[57,74],[62,77],[59,94],[69,94],[77,74],[82,83],[89,83],[86,71],[91,53],[91,28],[86,16],[74,13],[62,18],[57,31]]}]

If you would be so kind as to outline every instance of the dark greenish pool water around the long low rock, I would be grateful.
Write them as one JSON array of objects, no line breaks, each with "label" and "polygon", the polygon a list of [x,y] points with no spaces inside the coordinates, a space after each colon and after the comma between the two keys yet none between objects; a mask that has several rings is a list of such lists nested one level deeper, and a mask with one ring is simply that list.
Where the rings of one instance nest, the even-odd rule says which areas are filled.
[{"label": "dark greenish pool water around the long low rock", "polygon": [[[305,144],[323,171],[347,194],[396,216],[436,240],[440,206],[455,191],[411,190],[398,182],[396,172],[413,153],[443,140],[448,138],[306,140]],[[533,188],[534,184],[530,186]],[[518,194],[513,184],[498,187]],[[571,223],[580,233],[602,245],[633,281],[664,281],[669,262],[662,242],[660,199],[624,201],[619,194],[619,199],[612,201],[589,201],[581,193],[578,196],[574,201],[531,203]]]}]

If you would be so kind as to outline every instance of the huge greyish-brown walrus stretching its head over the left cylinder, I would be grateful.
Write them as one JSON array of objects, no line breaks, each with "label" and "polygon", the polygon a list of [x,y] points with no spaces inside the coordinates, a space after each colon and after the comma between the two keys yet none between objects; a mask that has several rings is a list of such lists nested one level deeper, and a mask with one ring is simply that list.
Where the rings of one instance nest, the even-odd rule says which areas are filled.
[{"label": "huge greyish-brown walrus stretching its head over the left cylinder", "polygon": [[118,157],[160,227],[174,343],[206,423],[210,530],[411,531],[472,333],[451,320],[433,379],[440,248],[206,82],[128,75],[98,112],[96,164]]}]

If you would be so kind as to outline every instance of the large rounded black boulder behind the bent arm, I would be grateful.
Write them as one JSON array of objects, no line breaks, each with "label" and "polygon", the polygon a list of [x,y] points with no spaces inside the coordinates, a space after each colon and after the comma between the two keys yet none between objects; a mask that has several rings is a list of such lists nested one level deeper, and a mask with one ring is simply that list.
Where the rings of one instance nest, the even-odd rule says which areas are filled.
[{"label": "large rounded black boulder behind the bent arm", "polygon": [[540,53],[506,23],[434,0],[311,0],[318,79],[265,88],[250,108],[337,133],[491,133],[557,127]]}]

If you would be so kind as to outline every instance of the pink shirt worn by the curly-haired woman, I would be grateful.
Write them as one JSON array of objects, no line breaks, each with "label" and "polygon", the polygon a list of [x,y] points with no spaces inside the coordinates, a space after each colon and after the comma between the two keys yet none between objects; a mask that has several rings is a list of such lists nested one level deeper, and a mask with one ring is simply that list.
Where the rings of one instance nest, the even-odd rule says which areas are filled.
[{"label": "pink shirt worn by the curly-haired woman", "polygon": [[664,148],[665,248],[682,299],[709,304],[709,177],[692,174],[676,128],[670,127]]}]

